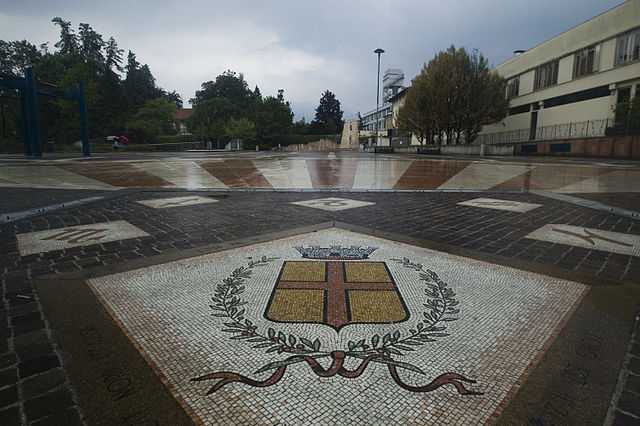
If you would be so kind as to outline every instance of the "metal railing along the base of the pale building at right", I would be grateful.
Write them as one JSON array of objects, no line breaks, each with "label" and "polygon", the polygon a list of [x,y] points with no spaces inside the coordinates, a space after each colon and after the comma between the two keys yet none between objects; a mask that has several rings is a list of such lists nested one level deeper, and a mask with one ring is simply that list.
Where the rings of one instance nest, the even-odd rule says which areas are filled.
[{"label": "metal railing along the base of the pale building at right", "polygon": [[587,120],[577,123],[554,124],[541,126],[535,129],[532,135],[531,129],[518,129],[506,132],[486,133],[478,135],[474,144],[502,144],[521,143],[527,141],[547,141],[558,139],[591,138],[605,136],[608,127],[614,125],[614,121],[608,118],[601,120]]}]

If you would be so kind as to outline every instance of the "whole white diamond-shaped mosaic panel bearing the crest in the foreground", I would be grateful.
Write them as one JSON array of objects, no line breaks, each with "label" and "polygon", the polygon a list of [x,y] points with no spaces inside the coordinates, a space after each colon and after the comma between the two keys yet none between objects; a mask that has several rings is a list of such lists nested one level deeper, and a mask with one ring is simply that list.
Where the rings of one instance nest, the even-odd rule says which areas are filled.
[{"label": "whole white diamond-shaped mosaic panel bearing the crest in the foreground", "polygon": [[[296,274],[282,275],[287,262],[314,263],[316,272],[295,281]],[[354,262],[365,265],[357,279],[331,276]],[[310,277],[316,281],[304,281]],[[585,292],[581,284],[337,229],[89,285],[197,421],[273,425],[483,423]],[[274,291],[295,303],[301,299],[289,295],[324,292],[313,303],[324,304],[325,316],[271,321],[265,313]],[[374,303],[395,291],[406,320],[360,323],[349,314],[357,300],[350,292]],[[346,303],[339,329],[327,316],[336,301]]]}]

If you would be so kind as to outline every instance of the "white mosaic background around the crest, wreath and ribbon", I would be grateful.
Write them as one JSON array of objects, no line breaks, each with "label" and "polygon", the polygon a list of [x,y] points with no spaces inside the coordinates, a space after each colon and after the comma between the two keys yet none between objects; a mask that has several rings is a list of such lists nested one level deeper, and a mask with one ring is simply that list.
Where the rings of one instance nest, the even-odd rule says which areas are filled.
[{"label": "white mosaic background around the crest, wreath and ribbon", "polygon": [[[362,245],[379,247],[371,259],[385,260],[396,279],[412,317],[404,323],[353,325],[339,335],[317,324],[280,324],[262,314],[284,260],[299,259],[297,245]],[[423,311],[424,294],[417,273],[390,258],[408,257],[436,271],[457,293],[460,319],[447,323],[448,337],[401,357],[427,375],[400,369],[402,379],[424,385],[445,372],[456,372],[477,384],[468,388],[482,396],[461,396],[453,386],[430,393],[405,391],[391,379],[386,366],[370,364],[357,379],[320,378],[306,364],[289,366],[276,385],[254,388],[233,383],[213,395],[214,383],[190,379],[214,371],[254,376],[258,368],[286,354],[265,354],[250,343],[229,340],[220,331],[224,318],[211,316],[209,299],[216,283],[246,263],[248,256],[276,256],[268,266],[255,268],[244,298],[247,318],[266,331],[292,333],[313,340],[322,349],[346,348],[348,340],[375,333],[411,328]],[[92,279],[103,299],[139,347],[167,377],[177,393],[205,424],[448,424],[486,421],[541,353],[586,287],[569,281],[450,256],[388,240],[325,230],[241,249],[200,256],[141,270]],[[320,361],[328,367],[329,359]],[[359,361],[349,360],[347,368]]]}]

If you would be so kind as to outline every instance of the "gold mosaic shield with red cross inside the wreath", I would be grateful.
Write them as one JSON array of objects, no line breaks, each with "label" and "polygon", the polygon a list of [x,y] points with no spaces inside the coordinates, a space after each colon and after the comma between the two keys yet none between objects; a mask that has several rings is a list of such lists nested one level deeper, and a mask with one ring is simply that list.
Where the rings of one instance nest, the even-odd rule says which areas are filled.
[{"label": "gold mosaic shield with red cross inside the wreath", "polygon": [[384,262],[287,261],[265,317],[276,322],[394,323],[409,318]]}]

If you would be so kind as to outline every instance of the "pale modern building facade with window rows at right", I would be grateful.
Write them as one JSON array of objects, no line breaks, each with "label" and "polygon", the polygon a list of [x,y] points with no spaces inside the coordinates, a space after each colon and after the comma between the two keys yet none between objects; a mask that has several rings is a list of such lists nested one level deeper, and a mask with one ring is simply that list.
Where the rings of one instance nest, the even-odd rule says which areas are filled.
[{"label": "pale modern building facade with window rows at right", "polygon": [[475,143],[602,136],[640,94],[640,0],[628,0],[496,67],[509,113]]}]

